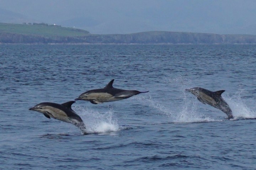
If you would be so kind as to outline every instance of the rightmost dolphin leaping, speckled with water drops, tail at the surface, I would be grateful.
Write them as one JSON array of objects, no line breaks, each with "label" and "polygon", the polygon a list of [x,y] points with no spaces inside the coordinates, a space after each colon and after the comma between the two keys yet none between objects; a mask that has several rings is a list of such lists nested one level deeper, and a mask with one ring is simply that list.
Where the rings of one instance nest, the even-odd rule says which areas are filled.
[{"label": "rightmost dolphin leaping, speckled with water drops, tail at the surface", "polygon": [[210,91],[201,87],[194,87],[191,89],[186,89],[186,91],[189,91],[195,95],[203,104],[209,104],[210,106],[220,109],[222,112],[228,115],[228,119],[234,118],[228,103],[226,103],[221,96],[225,90]]}]

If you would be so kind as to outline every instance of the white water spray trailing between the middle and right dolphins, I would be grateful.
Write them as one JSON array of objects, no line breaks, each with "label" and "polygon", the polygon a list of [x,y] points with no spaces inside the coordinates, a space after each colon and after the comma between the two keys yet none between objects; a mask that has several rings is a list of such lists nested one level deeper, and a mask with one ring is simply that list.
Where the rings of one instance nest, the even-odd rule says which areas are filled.
[{"label": "white water spray trailing between the middle and right dolphins", "polygon": [[[223,121],[222,119],[208,115],[205,109],[200,110],[197,99],[187,98],[188,94],[185,92],[185,89],[191,86],[192,81],[190,79],[182,75],[177,75],[172,79],[165,78],[163,83],[167,87],[164,92],[166,95],[158,96],[157,101],[151,98],[151,96],[137,96],[135,99],[144,101],[149,107],[156,109],[156,114],[165,115],[172,123]],[[168,96],[169,93],[174,94],[174,97],[168,99],[163,98]]]}]

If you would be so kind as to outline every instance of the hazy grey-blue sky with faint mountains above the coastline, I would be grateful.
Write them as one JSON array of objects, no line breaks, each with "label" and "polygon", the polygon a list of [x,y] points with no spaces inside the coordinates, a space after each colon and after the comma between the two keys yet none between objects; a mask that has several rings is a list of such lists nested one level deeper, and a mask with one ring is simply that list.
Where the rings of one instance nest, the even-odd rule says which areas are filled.
[{"label": "hazy grey-blue sky with faint mountains above the coastline", "polygon": [[0,0],[0,22],[55,23],[92,34],[256,35],[256,0]]}]

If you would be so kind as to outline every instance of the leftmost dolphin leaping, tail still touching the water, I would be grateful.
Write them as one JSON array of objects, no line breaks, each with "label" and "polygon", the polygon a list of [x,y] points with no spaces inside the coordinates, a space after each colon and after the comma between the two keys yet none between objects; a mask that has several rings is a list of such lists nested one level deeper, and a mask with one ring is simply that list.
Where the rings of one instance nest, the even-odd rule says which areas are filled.
[{"label": "leftmost dolphin leaping, tail still touching the water", "polygon": [[78,127],[83,134],[86,134],[84,122],[81,117],[71,109],[73,103],[75,103],[75,101],[69,101],[62,104],[43,102],[29,108],[29,110],[43,113],[44,116],[49,119],[54,118],[66,123],[71,123]]}]

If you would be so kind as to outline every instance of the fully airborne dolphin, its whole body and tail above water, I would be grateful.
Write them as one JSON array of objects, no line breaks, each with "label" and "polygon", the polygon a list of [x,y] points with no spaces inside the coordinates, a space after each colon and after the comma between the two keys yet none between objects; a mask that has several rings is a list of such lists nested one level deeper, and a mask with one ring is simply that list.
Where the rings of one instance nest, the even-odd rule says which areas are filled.
[{"label": "fully airborne dolphin, its whole body and tail above water", "polygon": [[117,100],[123,100],[125,98],[138,95],[140,93],[146,93],[149,91],[137,91],[137,90],[122,90],[113,87],[114,79],[111,80],[103,89],[94,89],[82,93],[75,100],[89,101],[92,104],[100,104],[104,102],[113,102]]}]

